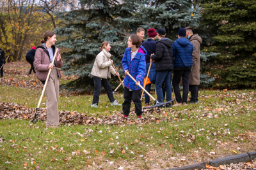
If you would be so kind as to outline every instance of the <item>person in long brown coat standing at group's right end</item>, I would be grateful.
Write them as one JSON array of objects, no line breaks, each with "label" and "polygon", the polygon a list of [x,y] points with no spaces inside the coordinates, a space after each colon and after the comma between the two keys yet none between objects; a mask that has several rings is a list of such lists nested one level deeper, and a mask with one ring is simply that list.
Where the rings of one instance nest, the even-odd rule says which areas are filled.
[{"label": "person in long brown coat standing at group's right end", "polygon": [[202,39],[198,34],[193,34],[191,27],[186,27],[185,29],[187,31],[189,42],[193,44],[193,66],[191,67],[189,76],[189,91],[191,92],[191,98],[188,103],[197,103],[198,86],[200,84],[200,44],[202,43]]}]

